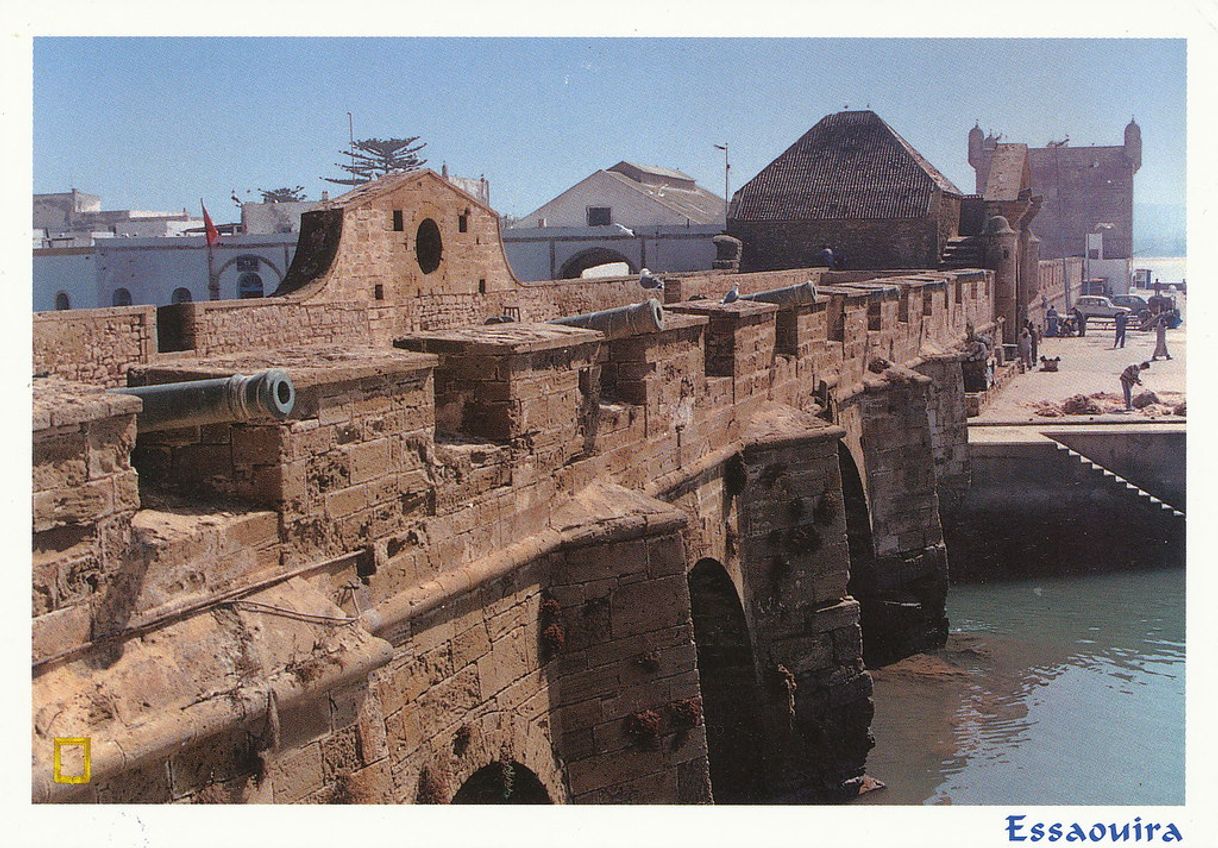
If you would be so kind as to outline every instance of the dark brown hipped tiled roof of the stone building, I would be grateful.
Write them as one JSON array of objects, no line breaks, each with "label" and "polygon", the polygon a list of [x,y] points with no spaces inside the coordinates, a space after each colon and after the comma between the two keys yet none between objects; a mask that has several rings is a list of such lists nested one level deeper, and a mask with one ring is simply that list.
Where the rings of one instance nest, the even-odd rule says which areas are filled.
[{"label": "dark brown hipped tiled roof of the stone building", "polygon": [[732,197],[731,218],[917,218],[951,180],[870,111],[837,112],[790,145]]}]

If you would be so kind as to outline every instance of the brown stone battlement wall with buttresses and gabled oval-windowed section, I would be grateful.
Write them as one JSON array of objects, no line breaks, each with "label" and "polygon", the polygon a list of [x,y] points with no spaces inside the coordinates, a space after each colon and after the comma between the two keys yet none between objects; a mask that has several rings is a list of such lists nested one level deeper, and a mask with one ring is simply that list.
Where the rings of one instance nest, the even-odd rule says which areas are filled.
[{"label": "brown stone battlement wall with buttresses and gabled oval-windowed section", "polygon": [[[637,283],[516,283],[497,227],[387,178],[306,216],[274,299],[35,317],[35,800],[859,790],[864,657],[946,635],[994,273],[682,274],[607,339],[540,322]],[[136,435],[105,392],[266,367],[281,422]]]}]

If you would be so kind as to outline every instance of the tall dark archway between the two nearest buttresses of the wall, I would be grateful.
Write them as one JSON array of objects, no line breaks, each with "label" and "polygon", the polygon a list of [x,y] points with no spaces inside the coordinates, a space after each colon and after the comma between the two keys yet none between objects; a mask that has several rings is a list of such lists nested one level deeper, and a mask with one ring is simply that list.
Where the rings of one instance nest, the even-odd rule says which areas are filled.
[{"label": "tall dark archway between the two nearest buttresses of the wall", "polygon": [[699,559],[688,580],[711,792],[720,804],[758,802],[765,774],[758,720],[761,693],[744,609],[716,560]]}]

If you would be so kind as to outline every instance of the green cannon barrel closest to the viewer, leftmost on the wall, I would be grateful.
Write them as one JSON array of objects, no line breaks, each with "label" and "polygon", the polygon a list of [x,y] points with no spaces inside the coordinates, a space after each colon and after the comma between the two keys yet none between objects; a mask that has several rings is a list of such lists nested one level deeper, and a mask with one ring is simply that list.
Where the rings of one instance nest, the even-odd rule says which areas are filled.
[{"label": "green cannon barrel closest to the viewer, leftmost on the wall", "polygon": [[229,424],[255,418],[286,418],[296,405],[296,386],[287,372],[270,368],[257,374],[234,374],[213,380],[163,383],[155,386],[111,389],[144,401],[136,417],[139,430]]}]

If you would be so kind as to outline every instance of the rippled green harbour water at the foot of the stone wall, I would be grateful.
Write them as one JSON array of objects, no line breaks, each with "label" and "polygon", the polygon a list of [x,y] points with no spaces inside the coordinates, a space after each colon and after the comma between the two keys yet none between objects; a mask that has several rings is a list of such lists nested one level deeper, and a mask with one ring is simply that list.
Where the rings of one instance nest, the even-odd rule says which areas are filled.
[{"label": "rippled green harbour water at the foot of the stone wall", "polygon": [[1183,804],[1184,570],[952,586],[879,669],[875,804]]}]

